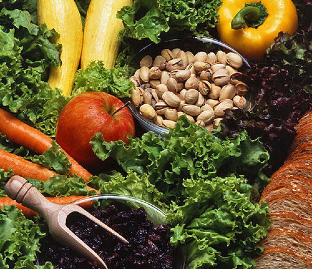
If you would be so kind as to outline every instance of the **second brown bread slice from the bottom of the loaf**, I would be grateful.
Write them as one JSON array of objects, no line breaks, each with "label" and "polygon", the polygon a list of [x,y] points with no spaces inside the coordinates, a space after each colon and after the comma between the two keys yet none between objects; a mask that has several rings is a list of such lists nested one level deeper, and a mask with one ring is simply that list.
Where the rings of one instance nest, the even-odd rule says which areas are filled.
[{"label": "second brown bread slice from the bottom of the loaf", "polygon": [[296,254],[312,259],[312,237],[288,229],[273,229],[261,240],[261,247],[286,247]]}]

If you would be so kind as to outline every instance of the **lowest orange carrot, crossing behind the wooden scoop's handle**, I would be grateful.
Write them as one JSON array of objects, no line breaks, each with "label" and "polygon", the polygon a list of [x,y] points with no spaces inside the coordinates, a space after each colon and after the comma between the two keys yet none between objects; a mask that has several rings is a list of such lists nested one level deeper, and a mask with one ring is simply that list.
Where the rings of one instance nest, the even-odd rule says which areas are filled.
[{"label": "lowest orange carrot, crossing behind the wooden scoop's handle", "polygon": [[[87,196],[66,196],[66,197],[46,197],[50,202],[57,203],[57,204],[68,204],[72,203],[80,198],[85,198]],[[3,206],[10,206],[15,205],[18,209],[22,210],[22,213],[25,215],[25,217],[30,218],[36,215],[36,212],[24,207],[22,204],[17,203],[16,201],[12,200],[9,197],[0,197],[0,208]],[[83,203],[79,203],[79,205],[83,208],[90,208],[93,205],[93,201],[86,201]]]}]

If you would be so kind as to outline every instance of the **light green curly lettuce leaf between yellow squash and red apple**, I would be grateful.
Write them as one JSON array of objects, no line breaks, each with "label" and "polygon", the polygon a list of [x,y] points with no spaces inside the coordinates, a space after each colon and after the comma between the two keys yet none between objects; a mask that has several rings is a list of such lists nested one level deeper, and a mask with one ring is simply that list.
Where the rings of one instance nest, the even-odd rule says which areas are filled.
[{"label": "light green curly lettuce leaf between yellow squash and red apple", "polygon": [[119,98],[130,97],[134,83],[128,79],[128,71],[122,67],[106,69],[103,61],[92,61],[86,69],[80,69],[74,79],[72,96],[86,91],[102,91]]}]

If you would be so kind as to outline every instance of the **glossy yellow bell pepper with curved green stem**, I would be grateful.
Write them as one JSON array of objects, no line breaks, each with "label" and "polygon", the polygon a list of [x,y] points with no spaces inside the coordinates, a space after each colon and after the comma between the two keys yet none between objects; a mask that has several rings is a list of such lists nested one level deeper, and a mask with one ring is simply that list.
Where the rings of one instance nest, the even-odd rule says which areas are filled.
[{"label": "glossy yellow bell pepper with curved green stem", "polygon": [[261,60],[280,31],[292,35],[298,27],[291,0],[223,0],[219,13],[220,40],[251,60]]}]

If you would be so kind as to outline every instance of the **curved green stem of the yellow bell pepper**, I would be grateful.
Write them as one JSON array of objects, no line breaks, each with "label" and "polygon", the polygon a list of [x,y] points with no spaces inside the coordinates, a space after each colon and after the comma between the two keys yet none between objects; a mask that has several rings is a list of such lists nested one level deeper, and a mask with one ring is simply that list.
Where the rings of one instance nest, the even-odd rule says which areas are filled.
[{"label": "curved green stem of the yellow bell pepper", "polygon": [[261,25],[269,14],[266,12],[266,7],[260,2],[245,4],[233,18],[232,29],[245,28],[245,24],[249,27],[258,27]]}]

